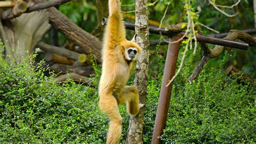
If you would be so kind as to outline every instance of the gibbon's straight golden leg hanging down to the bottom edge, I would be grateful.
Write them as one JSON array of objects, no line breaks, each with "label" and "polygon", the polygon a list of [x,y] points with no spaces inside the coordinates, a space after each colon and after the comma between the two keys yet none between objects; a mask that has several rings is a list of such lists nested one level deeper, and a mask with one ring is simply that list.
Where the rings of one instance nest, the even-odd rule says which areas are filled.
[{"label": "gibbon's straight golden leg hanging down to the bottom edge", "polygon": [[116,98],[111,94],[100,97],[99,107],[110,119],[106,143],[118,143],[122,134],[122,116]]}]

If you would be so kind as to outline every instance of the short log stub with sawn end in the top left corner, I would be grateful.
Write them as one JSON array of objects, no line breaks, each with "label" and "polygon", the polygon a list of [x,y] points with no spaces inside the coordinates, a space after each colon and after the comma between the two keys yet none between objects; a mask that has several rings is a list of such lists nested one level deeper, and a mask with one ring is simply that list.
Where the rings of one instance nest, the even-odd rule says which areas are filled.
[{"label": "short log stub with sawn end in the top left corner", "polygon": [[28,9],[28,3],[26,2],[19,2],[17,3],[14,8],[8,9],[2,12],[2,19],[11,19],[13,17],[21,16]]}]

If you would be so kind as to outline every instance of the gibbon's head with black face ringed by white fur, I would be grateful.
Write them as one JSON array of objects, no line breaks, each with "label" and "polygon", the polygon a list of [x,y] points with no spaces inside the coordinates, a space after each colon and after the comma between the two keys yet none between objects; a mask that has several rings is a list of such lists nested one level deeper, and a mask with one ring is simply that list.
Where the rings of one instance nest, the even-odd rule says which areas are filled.
[{"label": "gibbon's head with black face ringed by white fur", "polygon": [[[136,38],[136,35],[134,35],[134,37]],[[137,60],[142,51],[142,48],[134,42],[134,37],[131,41],[124,40],[121,42],[121,45],[124,48],[125,59],[128,61]]]}]

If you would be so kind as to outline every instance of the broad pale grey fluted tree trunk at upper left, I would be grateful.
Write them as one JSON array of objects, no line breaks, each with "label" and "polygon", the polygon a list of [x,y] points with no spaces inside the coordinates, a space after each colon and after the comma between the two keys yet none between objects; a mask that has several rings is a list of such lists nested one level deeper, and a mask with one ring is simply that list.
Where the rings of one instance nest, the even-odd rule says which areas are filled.
[{"label": "broad pale grey fluted tree trunk at upper left", "polygon": [[1,36],[5,45],[6,55],[11,56],[17,63],[28,56],[32,56],[35,45],[50,29],[47,10],[23,13],[11,19],[2,20],[0,23]]}]

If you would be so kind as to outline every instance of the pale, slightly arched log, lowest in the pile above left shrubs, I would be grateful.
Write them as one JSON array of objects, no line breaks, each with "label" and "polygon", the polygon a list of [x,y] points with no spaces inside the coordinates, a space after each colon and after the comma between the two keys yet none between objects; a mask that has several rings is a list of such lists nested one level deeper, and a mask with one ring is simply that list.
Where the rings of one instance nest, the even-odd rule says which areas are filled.
[{"label": "pale, slightly arched log, lowest in the pile above left shrubs", "polygon": [[59,82],[62,82],[62,81],[66,81],[68,78],[73,79],[73,81],[75,81],[79,84],[92,85],[92,81],[90,80],[90,78],[81,76],[81,75],[76,74],[76,73],[63,74],[63,75],[55,78],[55,80],[59,83]]}]

